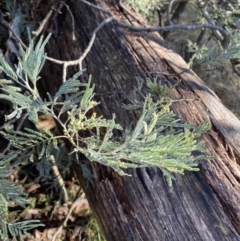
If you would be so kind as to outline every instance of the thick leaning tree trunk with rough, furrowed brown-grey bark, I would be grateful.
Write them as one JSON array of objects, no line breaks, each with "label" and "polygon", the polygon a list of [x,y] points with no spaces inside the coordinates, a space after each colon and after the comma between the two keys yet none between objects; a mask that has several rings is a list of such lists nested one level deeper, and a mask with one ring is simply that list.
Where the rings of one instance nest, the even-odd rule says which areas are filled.
[{"label": "thick leaning tree trunk with rough, furrowed brown-grey bark", "polygon": [[[111,9],[115,16],[132,21],[124,9],[110,1],[91,0],[92,4]],[[66,1],[67,8],[55,16],[58,30],[46,51],[48,56],[77,59],[89,43],[94,29],[108,15],[80,1]],[[72,17],[76,40],[72,40]],[[155,38],[155,41],[150,39]],[[158,43],[156,43],[158,42]],[[84,61],[87,68],[82,81],[93,75],[96,110],[127,126],[139,117],[124,110],[123,103],[140,98],[134,86],[136,78],[154,78],[162,84],[178,83],[172,92],[173,111],[183,122],[212,124],[203,139],[215,157],[203,160],[200,171],[176,175],[169,187],[157,168],[129,170],[131,177],[120,177],[105,166],[89,163],[94,185],[86,183],[81,169],[77,175],[90,206],[108,241],[235,241],[240,240],[240,121],[226,109],[218,97],[188,69],[182,58],[160,45],[157,35],[137,34],[105,25]],[[78,66],[68,69],[69,76]],[[42,74],[41,91],[54,93],[62,82],[62,66],[47,62]]]}]

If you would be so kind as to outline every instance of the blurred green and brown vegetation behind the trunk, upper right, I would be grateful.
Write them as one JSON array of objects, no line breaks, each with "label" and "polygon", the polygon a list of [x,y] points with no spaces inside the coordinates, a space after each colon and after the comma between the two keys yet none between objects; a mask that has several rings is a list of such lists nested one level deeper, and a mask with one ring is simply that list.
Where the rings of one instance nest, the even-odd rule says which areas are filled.
[{"label": "blurred green and brown vegetation behind the trunk, upper right", "polygon": [[[231,62],[232,58],[238,58],[239,55],[240,1],[126,0],[126,3],[137,9],[148,20],[149,24],[154,26],[169,25],[170,2],[172,3],[170,17],[174,24],[197,25],[203,22],[212,22],[229,31],[232,43],[231,51],[226,51],[224,56],[220,54],[223,52],[217,48],[221,43],[211,29],[196,29],[194,31],[181,29],[170,32],[162,31],[160,34],[168,46],[181,55],[197,75],[215,91],[223,103],[236,116],[240,117],[238,61],[236,61],[236,65]],[[204,7],[201,8],[200,5]]]}]

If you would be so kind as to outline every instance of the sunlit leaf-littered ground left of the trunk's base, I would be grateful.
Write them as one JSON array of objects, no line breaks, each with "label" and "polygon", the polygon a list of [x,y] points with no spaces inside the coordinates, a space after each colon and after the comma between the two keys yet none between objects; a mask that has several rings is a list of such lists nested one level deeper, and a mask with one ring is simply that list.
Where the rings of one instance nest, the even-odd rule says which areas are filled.
[{"label": "sunlit leaf-littered ground left of the trunk's base", "polygon": [[[44,224],[32,231],[31,235],[35,240],[104,240],[88,201],[72,172],[69,172],[65,179],[69,198],[65,203],[60,194],[61,189],[56,188],[57,185],[54,183],[56,180],[41,180],[34,163],[14,168],[9,179],[18,184],[27,194],[29,201],[26,208],[14,203],[10,205],[10,217],[18,221],[37,219]],[[24,240],[32,241],[33,238],[26,236]]]}]

